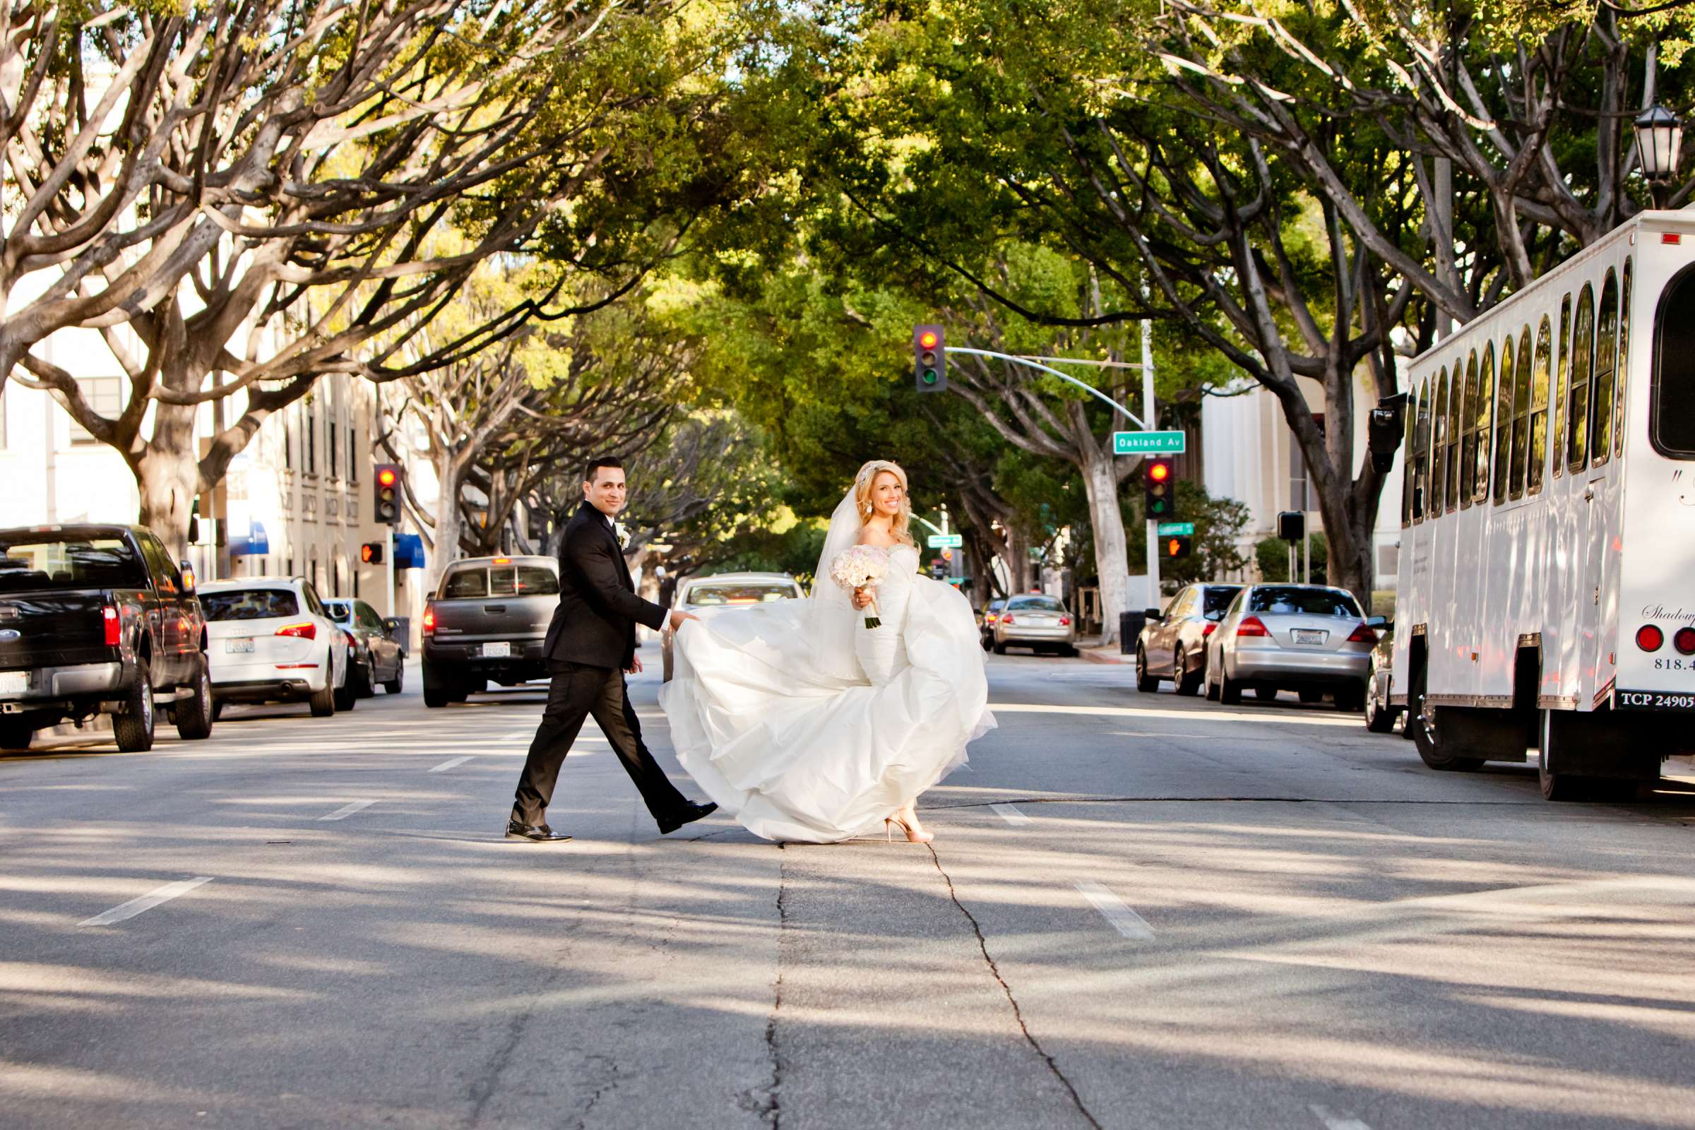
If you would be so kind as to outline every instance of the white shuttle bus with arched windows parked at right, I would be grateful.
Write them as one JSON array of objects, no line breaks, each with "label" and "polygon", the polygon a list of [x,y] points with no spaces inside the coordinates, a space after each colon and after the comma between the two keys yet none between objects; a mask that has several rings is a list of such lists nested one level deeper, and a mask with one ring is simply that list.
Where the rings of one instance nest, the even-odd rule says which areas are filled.
[{"label": "white shuttle bus with arched windows parked at right", "polygon": [[1615,796],[1695,747],[1695,212],[1410,366],[1392,698],[1434,769]]}]

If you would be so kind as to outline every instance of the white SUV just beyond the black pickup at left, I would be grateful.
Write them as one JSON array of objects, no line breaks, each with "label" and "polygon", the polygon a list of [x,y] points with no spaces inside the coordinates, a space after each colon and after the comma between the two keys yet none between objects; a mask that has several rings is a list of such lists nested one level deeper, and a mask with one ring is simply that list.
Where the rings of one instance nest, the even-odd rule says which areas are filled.
[{"label": "white SUV just beyond the black pickup at left", "polygon": [[295,703],[324,718],[353,710],[347,632],[305,578],[253,576],[200,586],[214,717],[224,703]]}]

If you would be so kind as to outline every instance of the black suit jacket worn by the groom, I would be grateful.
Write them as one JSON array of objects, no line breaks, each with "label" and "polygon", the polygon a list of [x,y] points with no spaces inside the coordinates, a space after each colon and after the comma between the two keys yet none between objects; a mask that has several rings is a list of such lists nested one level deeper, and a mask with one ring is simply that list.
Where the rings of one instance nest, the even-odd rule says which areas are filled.
[{"label": "black suit jacket worn by the groom", "polygon": [[664,615],[636,595],[607,517],[585,501],[559,542],[559,607],[547,625],[547,659],[627,669],[636,659],[636,625],[658,629]]}]

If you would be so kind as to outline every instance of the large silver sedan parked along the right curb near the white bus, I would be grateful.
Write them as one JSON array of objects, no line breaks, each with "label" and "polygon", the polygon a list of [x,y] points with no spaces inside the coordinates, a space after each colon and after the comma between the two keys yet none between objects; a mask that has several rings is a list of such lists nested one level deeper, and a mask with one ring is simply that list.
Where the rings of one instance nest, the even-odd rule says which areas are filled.
[{"label": "large silver sedan parked along the right curb near the white bus", "polygon": [[1315,703],[1331,691],[1337,710],[1364,705],[1376,632],[1353,593],[1325,584],[1251,584],[1231,601],[1207,651],[1207,698],[1242,701],[1293,690]]}]

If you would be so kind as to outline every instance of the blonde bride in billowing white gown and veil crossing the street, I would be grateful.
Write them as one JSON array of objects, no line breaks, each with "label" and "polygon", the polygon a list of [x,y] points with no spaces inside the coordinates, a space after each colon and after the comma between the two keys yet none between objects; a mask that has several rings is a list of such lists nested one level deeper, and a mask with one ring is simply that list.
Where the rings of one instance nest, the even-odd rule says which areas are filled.
[{"label": "blonde bride in billowing white gown and veil crossing the street", "polygon": [[[907,473],[866,463],[831,517],[810,600],[714,612],[673,640],[659,703],[678,759],[756,835],[832,844],[881,825],[927,842],[914,801],[995,725],[971,607],[919,576],[910,520]],[[831,566],[854,546],[886,569],[849,595]]]}]

